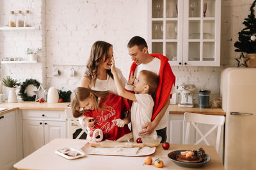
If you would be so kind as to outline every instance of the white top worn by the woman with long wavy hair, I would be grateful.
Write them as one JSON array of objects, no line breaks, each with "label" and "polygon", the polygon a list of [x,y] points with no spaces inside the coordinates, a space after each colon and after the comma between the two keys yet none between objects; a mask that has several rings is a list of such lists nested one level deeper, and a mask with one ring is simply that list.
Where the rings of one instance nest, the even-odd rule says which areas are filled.
[{"label": "white top worn by the woman with long wavy hair", "polygon": [[[123,85],[125,87],[125,83],[127,83],[127,80],[124,78],[122,71],[118,68],[116,68],[116,73]],[[111,78],[109,75],[107,77],[107,80],[100,80],[99,78],[96,79],[95,85],[92,87],[92,90],[97,91],[109,91],[113,94],[118,94],[116,90],[115,81],[113,78]]]}]

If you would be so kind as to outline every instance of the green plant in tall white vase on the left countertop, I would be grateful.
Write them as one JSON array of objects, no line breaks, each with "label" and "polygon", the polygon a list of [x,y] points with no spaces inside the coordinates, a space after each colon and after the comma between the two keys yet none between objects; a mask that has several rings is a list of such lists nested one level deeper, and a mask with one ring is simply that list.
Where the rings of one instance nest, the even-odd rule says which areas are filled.
[{"label": "green plant in tall white vase on the left countertop", "polygon": [[3,78],[2,81],[3,81],[3,85],[5,87],[8,87],[9,89],[8,103],[16,103],[17,102],[16,89],[17,87],[20,86],[20,83],[18,83],[18,80],[15,80],[10,76],[6,76],[6,78]]}]

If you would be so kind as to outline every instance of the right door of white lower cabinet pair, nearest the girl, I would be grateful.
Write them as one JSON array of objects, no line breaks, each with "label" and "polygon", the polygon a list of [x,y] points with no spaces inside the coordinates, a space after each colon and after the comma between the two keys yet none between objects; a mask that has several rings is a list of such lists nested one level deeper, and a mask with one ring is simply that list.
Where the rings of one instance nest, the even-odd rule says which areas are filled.
[{"label": "right door of white lower cabinet pair, nearest the girl", "polygon": [[66,122],[45,121],[44,135],[45,144],[55,138],[66,138]]}]

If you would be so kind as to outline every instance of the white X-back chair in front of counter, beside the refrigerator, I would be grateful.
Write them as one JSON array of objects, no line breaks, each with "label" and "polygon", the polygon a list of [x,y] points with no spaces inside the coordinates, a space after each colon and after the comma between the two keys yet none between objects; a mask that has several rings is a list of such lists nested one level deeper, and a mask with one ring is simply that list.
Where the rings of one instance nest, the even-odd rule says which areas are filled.
[{"label": "white X-back chair in front of counter, beside the refrigerator", "polygon": [[[201,136],[200,139],[196,141],[194,145],[198,145],[201,141],[204,141],[206,145],[210,145],[207,141],[207,136],[214,131],[214,129],[218,128],[217,136],[216,136],[216,151],[219,153],[220,151],[220,138],[221,138],[221,127],[225,123],[225,117],[224,116],[217,116],[217,115],[203,115],[203,114],[197,114],[197,113],[184,113],[184,120],[187,122],[186,127],[186,135],[185,135],[185,144],[189,144],[189,133],[190,133],[190,125],[193,125],[195,127],[196,132]],[[214,125],[208,132],[203,134],[200,129],[198,128],[198,124],[209,124]]]}]

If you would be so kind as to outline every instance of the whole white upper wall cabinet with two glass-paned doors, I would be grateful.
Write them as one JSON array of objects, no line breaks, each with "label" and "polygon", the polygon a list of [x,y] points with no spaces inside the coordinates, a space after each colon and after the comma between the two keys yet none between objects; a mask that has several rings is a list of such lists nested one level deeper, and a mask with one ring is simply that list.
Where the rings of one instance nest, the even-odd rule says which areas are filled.
[{"label": "whole white upper wall cabinet with two glass-paned doors", "polygon": [[220,66],[220,0],[151,0],[148,48],[171,66]]}]

